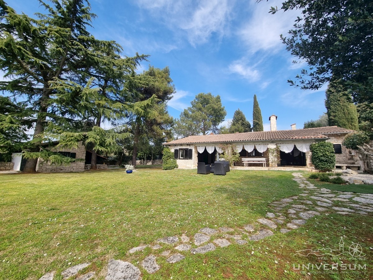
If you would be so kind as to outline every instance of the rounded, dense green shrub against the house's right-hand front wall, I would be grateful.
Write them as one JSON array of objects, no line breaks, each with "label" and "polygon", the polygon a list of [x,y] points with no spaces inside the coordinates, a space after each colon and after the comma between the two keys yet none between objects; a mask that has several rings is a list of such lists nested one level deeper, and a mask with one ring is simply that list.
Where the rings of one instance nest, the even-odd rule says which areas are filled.
[{"label": "rounded, dense green shrub against the house's right-hand front wall", "polygon": [[329,171],[335,168],[335,153],[330,142],[317,142],[310,145],[311,161],[316,169]]}]

